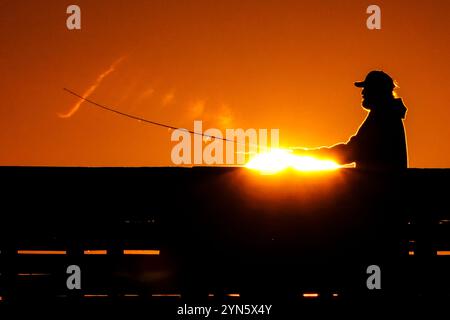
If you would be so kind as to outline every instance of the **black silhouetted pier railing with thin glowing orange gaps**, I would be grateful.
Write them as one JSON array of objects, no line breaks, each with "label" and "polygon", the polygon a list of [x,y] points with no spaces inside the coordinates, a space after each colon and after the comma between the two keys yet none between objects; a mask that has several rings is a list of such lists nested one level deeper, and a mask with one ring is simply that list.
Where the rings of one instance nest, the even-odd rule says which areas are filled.
[{"label": "black silhouetted pier railing with thin glowing orange gaps", "polygon": [[[0,304],[450,295],[446,169],[2,167],[0,177]],[[81,290],[66,287],[69,265]],[[367,289],[369,265],[381,290]]]}]

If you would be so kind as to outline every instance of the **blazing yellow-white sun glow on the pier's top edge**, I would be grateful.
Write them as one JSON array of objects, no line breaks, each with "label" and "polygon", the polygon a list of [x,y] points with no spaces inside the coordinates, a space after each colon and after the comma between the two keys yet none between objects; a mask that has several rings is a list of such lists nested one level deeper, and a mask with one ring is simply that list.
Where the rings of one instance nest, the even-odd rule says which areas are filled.
[{"label": "blazing yellow-white sun glow on the pier's top edge", "polygon": [[262,174],[275,174],[287,168],[297,171],[336,170],[341,166],[331,160],[297,156],[290,150],[271,149],[258,153],[245,165],[246,168],[258,170]]}]

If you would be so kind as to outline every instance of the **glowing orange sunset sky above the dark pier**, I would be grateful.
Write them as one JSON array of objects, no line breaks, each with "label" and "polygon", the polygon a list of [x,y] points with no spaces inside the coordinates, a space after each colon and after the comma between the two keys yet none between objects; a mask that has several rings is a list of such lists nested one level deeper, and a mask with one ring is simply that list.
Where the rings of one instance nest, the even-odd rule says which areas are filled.
[{"label": "glowing orange sunset sky above the dark pier", "polygon": [[[284,146],[345,141],[371,69],[400,84],[410,167],[450,167],[450,1],[0,1],[0,165],[171,165],[159,127],[279,128]],[[66,28],[78,4],[82,30]]]}]

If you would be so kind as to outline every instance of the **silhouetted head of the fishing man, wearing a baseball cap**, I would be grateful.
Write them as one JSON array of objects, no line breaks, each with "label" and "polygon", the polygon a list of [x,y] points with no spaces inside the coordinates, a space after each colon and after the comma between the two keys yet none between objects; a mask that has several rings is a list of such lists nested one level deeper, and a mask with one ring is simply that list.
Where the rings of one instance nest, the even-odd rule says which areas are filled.
[{"label": "silhouetted head of the fishing man, wearing a baseball cap", "polygon": [[364,81],[355,82],[355,86],[363,88],[362,106],[372,110],[394,98],[395,82],[383,71],[370,71]]}]

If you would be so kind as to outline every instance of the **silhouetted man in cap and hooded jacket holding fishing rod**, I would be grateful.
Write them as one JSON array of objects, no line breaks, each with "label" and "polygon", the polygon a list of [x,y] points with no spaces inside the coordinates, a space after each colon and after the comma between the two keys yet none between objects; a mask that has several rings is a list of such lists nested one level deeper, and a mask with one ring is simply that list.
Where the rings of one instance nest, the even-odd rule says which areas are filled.
[{"label": "silhouetted man in cap and hooded jacket holding fishing rod", "polygon": [[364,81],[362,107],[369,111],[358,132],[347,143],[318,149],[294,150],[296,154],[334,159],[340,164],[356,163],[357,168],[398,170],[407,168],[403,119],[406,107],[394,94],[394,80],[383,71],[371,71]]}]

